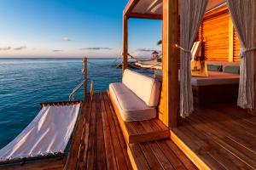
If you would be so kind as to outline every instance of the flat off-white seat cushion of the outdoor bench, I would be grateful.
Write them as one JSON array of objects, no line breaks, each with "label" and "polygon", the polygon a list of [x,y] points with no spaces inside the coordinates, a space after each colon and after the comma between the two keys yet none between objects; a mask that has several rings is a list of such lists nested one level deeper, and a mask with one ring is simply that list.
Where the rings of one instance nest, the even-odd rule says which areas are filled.
[{"label": "flat off-white seat cushion of the outdoor bench", "polygon": [[125,122],[144,121],[156,117],[156,109],[146,105],[142,99],[138,98],[123,83],[110,84],[109,94]]}]

